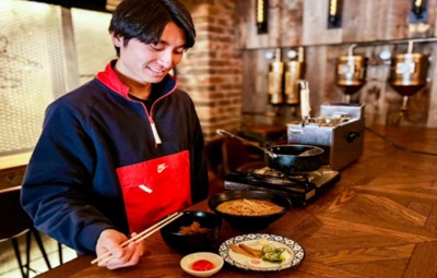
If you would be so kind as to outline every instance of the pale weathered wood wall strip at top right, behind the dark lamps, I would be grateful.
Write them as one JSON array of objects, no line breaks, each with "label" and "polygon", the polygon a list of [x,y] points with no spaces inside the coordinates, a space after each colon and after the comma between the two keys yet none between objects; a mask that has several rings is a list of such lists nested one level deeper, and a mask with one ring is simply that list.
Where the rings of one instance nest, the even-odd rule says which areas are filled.
[{"label": "pale weathered wood wall strip at top right, behind the dark lamps", "polygon": [[[428,1],[429,24],[410,24],[411,0],[344,0],[342,27],[327,26],[328,0],[270,0],[269,33],[257,34],[255,0],[237,1],[244,49],[397,40],[433,36],[436,0]],[[415,28],[422,29],[420,34]],[[426,32],[423,32],[423,29]]]}]

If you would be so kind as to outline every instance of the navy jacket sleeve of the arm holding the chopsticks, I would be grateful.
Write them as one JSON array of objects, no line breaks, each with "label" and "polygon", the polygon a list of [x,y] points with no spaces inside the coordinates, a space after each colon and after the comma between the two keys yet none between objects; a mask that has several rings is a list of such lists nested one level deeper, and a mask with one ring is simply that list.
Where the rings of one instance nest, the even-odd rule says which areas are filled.
[{"label": "navy jacket sleeve of the arm holding the chopsticks", "polygon": [[93,205],[95,149],[83,118],[62,101],[48,107],[22,184],[36,228],[80,254],[95,252],[99,233],[115,228]]}]

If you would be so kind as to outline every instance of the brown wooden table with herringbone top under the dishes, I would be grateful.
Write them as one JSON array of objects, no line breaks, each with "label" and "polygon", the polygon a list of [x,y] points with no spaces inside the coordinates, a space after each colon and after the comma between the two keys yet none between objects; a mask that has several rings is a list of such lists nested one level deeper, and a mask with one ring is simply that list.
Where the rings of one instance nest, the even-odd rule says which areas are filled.
[{"label": "brown wooden table with herringbone top under the dishes", "polygon": [[[437,130],[377,130],[404,147],[437,153]],[[341,174],[330,191],[262,231],[297,241],[306,251],[299,266],[255,273],[225,264],[214,277],[437,277],[437,156],[400,150],[367,131],[364,155]],[[190,209],[208,208],[203,202]],[[222,240],[239,233],[225,223]],[[160,233],[147,249],[135,267],[108,270],[81,256],[39,277],[189,277]]]}]

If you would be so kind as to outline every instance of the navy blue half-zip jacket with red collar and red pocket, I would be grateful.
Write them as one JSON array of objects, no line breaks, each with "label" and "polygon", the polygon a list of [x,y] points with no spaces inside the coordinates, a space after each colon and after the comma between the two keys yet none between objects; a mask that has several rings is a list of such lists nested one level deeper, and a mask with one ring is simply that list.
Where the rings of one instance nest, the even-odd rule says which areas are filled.
[{"label": "navy blue half-zip jacket with red collar and red pocket", "polygon": [[108,64],[47,108],[22,188],[37,229],[90,253],[104,229],[139,232],[208,196],[199,119],[176,85],[154,84],[147,111]]}]

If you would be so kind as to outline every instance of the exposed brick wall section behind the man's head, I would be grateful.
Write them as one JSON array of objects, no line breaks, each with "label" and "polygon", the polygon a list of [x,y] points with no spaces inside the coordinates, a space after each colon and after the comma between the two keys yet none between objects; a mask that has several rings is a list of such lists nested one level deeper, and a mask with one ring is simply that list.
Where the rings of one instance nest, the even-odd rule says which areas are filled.
[{"label": "exposed brick wall section behind the man's head", "polygon": [[191,14],[197,40],[177,67],[181,89],[194,101],[206,141],[216,129],[241,124],[243,55],[236,41],[236,1],[197,1]]}]

